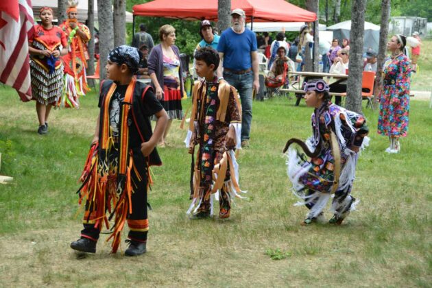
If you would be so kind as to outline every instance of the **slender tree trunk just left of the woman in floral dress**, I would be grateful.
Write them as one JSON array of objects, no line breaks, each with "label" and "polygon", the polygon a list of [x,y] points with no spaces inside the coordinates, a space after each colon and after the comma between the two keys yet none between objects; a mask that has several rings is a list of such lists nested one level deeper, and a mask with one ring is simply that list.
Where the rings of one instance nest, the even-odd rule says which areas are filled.
[{"label": "slender tree trunk just left of the woman in floral dress", "polygon": [[379,50],[378,50],[378,68],[376,69],[375,89],[374,89],[374,107],[378,106],[378,94],[383,86],[381,73],[385,60],[385,51],[387,49],[387,36],[389,34],[389,17],[390,17],[390,0],[381,1],[381,29],[379,30]]}]

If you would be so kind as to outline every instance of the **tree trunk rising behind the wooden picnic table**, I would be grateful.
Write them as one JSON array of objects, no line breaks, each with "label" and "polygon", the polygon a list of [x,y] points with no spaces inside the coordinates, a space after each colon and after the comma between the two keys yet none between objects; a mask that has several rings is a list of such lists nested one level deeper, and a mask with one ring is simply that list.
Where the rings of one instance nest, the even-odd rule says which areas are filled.
[{"label": "tree trunk rising behind the wooden picnic table", "polygon": [[313,33],[313,46],[315,47],[315,50],[312,52],[312,58],[311,55],[311,49],[309,47],[305,47],[305,54],[307,54],[306,57],[306,69],[305,71],[314,71],[317,72],[319,69],[319,60],[320,60],[320,38],[319,38],[319,29],[318,29],[318,13],[320,7],[320,0],[306,0],[306,9],[308,11],[314,12],[317,14],[317,20],[312,24],[312,33]]}]

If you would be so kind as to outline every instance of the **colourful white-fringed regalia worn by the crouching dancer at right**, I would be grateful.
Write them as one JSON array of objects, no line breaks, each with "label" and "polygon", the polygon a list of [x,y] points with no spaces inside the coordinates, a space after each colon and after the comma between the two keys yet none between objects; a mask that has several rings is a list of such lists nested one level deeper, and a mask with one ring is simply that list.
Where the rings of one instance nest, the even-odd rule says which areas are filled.
[{"label": "colourful white-fringed regalia worn by the crouching dancer at right", "polygon": [[[369,145],[363,116],[334,104],[328,110],[322,108],[316,109],[312,115],[314,136],[305,143],[311,152],[320,147],[319,154],[308,160],[305,154],[293,147],[289,147],[287,152],[287,173],[293,184],[293,194],[301,200],[296,206],[313,202],[311,217],[322,212],[331,194],[350,191],[359,156],[350,146],[355,141],[359,141],[361,150]],[[337,205],[344,203],[333,202],[333,212]]]}]

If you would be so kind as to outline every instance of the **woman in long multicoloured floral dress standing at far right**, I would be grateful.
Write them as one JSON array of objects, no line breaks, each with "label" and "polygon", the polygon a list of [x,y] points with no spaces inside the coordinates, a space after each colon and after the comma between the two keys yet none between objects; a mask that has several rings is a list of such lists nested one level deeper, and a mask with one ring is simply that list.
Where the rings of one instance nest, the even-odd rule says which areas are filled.
[{"label": "woman in long multicoloured floral dress standing at far right", "polygon": [[399,153],[399,138],[407,136],[411,68],[405,55],[407,38],[394,35],[387,43],[392,52],[384,64],[383,88],[379,94],[378,133],[389,137],[387,153]]}]

